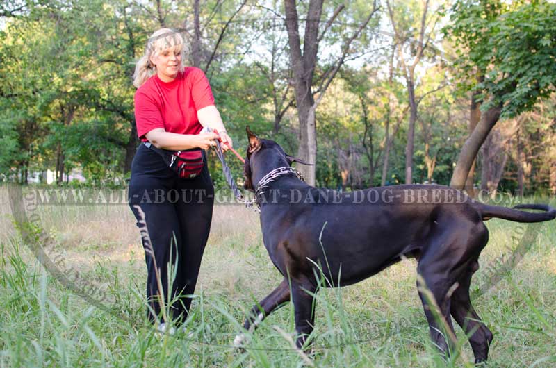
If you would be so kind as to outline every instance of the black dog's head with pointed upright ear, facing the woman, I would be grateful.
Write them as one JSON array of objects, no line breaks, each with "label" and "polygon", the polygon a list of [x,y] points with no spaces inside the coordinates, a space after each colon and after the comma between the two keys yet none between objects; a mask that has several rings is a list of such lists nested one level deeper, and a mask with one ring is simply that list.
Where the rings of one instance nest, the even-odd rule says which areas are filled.
[{"label": "black dog's head with pointed upright ear, facing the woman", "polygon": [[243,174],[245,175],[243,187],[245,189],[254,192],[257,183],[254,183],[253,173],[259,169],[265,175],[272,169],[286,165],[290,166],[293,162],[312,165],[300,158],[288,155],[275,141],[260,139],[251,131],[249,126],[246,126],[245,130],[247,131],[247,140],[249,141],[245,166],[243,167]]}]

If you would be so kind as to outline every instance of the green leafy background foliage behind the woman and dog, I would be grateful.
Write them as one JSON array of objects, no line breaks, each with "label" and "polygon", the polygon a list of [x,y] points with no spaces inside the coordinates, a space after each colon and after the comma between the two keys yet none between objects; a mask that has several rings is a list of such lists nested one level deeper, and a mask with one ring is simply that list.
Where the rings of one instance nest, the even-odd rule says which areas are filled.
[{"label": "green leafy background foliage behind the woman and dog", "polygon": [[[201,67],[206,67],[211,58],[206,73],[240,153],[245,153],[245,126],[249,125],[261,137],[277,140],[286,151],[295,154],[299,128],[287,35],[284,20],[278,16],[283,12],[282,4],[270,1],[263,7],[252,3],[241,6],[242,3],[203,3]],[[83,172],[88,183],[80,185],[122,183],[129,176],[125,171],[139,144],[132,133],[135,88],[131,76],[135,61],[148,35],[161,22],[187,28],[186,39],[192,40],[190,4],[161,1],[157,7],[153,2],[72,0],[24,2],[22,9],[15,10],[18,4],[8,1],[0,8],[0,180],[24,182],[32,172],[52,170],[57,162],[63,162],[66,174],[72,168]],[[319,44],[313,92],[334,67],[345,40],[372,8],[369,1],[326,1],[322,19],[332,17],[341,4],[345,8]],[[299,4],[300,29],[306,22],[306,6]],[[394,6],[402,38],[416,39],[422,3],[395,2]],[[345,65],[318,107],[319,185],[378,185],[388,118],[389,134],[393,134],[398,121],[401,124],[393,140],[386,182],[398,183],[404,177],[408,96],[398,60],[393,62],[393,79],[389,81],[392,43],[377,33],[383,28],[377,22],[387,19],[386,11],[382,4],[382,17],[375,17],[351,44]],[[430,157],[437,156],[434,180],[446,184],[467,134],[462,116],[468,106],[456,99],[457,95],[478,88],[484,99],[483,108],[502,103],[503,115],[514,116],[545,99],[556,75],[555,26],[550,21],[555,17],[555,4],[456,1],[449,14],[445,28],[449,37],[439,40],[433,31],[425,49],[426,62],[416,69],[417,97],[441,83],[448,85],[420,102],[414,157],[418,182],[427,178],[425,135],[419,124],[430,126]],[[432,1],[429,26],[442,16],[442,3]],[[439,24],[445,20],[448,19],[441,19]],[[326,22],[321,23],[322,32]],[[443,42],[443,47],[449,49],[453,46],[449,40],[457,46],[455,68],[446,65],[446,60],[439,60],[437,44]],[[404,49],[404,53],[411,61],[417,43],[407,45],[409,49]],[[484,78],[477,81],[477,76]],[[541,135],[531,137],[528,144],[534,147]],[[228,164],[241,182],[243,165],[231,156]],[[225,187],[220,162],[212,153],[209,167],[216,185]],[[341,172],[346,169],[343,179]],[[533,173],[543,179],[534,183],[546,186],[549,171],[548,164],[535,161]]]}]

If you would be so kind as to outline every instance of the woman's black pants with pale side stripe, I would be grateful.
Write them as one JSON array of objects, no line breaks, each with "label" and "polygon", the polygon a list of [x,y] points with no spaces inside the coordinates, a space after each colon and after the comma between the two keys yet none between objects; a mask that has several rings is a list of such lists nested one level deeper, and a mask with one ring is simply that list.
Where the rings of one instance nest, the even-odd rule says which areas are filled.
[{"label": "woman's black pants with pale side stripe", "polygon": [[[139,205],[145,212],[156,267],[160,269],[163,287],[160,294],[163,294],[166,306],[168,265],[176,269],[170,299],[177,299],[177,302],[172,303],[170,313],[178,322],[185,320],[191,304],[188,296],[195,291],[204,246],[211,229],[213,203],[214,187],[206,165],[196,178],[179,178],[158,153],[140,144],[131,164],[129,206],[138,221],[137,226],[140,217],[134,205]],[[142,234],[144,248],[146,241],[147,237]],[[162,320],[155,262],[147,249],[145,261],[149,306]],[[148,314],[153,321],[152,312]]]}]

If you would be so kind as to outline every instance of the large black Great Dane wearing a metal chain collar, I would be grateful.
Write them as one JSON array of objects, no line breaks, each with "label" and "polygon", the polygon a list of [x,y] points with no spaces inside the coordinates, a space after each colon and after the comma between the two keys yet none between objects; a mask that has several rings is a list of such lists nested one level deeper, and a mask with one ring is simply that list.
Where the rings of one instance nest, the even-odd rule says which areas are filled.
[{"label": "large black Great Dane wearing a metal chain collar", "polygon": [[[301,160],[288,156],[272,140],[260,140],[248,127],[247,136],[245,188],[256,193],[263,242],[284,280],[252,308],[245,329],[254,330],[272,310],[291,299],[297,346],[302,348],[313,331],[311,293],[318,288],[316,272],[322,272],[330,285],[339,274],[341,286],[350,285],[413,257],[418,260],[423,286],[434,296],[450,329],[446,332],[453,334],[452,315],[471,334],[475,362],[486,360],[492,333],[469,298],[471,276],[479,268],[479,255],[489,239],[483,221],[491,217],[548,221],[556,217],[554,208],[516,206],[546,211],[531,213],[489,206],[440,185],[396,185],[343,194],[320,190],[301,181],[290,168],[292,162]],[[448,353],[451,340],[447,342],[441,333],[443,326],[431,312],[434,305],[423,289],[419,296],[433,342]],[[243,334],[236,337],[236,346],[243,338]]]}]

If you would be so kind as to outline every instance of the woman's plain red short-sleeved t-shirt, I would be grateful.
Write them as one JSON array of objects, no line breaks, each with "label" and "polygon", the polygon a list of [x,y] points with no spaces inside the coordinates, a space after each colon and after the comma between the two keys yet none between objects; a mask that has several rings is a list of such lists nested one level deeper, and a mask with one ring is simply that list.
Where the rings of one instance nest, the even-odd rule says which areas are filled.
[{"label": "woman's plain red short-sleeved t-shirt", "polygon": [[203,127],[197,111],[214,105],[211,85],[197,67],[186,67],[171,82],[163,82],[155,74],[138,88],[133,100],[137,135],[144,142],[147,141],[145,134],[154,128],[198,134]]}]

